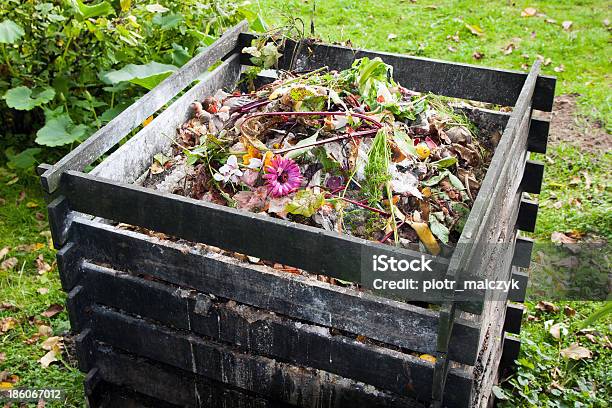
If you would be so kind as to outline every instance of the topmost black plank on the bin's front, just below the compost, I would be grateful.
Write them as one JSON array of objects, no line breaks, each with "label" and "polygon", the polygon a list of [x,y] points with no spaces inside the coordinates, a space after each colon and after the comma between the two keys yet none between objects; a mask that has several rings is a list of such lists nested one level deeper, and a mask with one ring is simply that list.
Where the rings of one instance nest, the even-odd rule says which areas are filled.
[{"label": "topmost black plank on the bin's front, just below the compost", "polygon": [[441,257],[79,172],[64,173],[61,191],[82,213],[350,282],[361,282],[368,253],[432,261],[433,271],[411,272],[407,278],[442,277],[446,269]]}]

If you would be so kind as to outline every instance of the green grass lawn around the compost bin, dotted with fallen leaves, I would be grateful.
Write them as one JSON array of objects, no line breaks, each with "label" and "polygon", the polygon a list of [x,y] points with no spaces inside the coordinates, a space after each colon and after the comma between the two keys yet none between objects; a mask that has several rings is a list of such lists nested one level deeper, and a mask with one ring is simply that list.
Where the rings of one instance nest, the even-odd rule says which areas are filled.
[{"label": "green grass lawn around the compost bin, dotted with fallen leaves", "polygon": [[[546,16],[521,17],[526,7]],[[309,32],[312,0],[261,1],[253,8],[259,8],[272,24],[280,24],[284,16],[300,16]],[[610,32],[604,25],[606,18],[610,18],[609,3],[596,1],[337,0],[317,2],[315,27],[326,41],[350,39],[363,48],[492,67],[525,69],[537,55],[550,58],[543,71],[558,77],[557,94],[579,93],[580,113],[609,130],[610,62],[605,51],[610,48]],[[563,29],[563,21],[572,22],[569,30]],[[482,35],[473,34],[466,24],[477,26]],[[510,44],[513,51],[504,52]],[[484,56],[477,60],[475,52]],[[546,173],[534,236],[547,242],[554,231],[577,230],[609,240],[610,153],[557,144],[539,159],[545,162]],[[69,329],[65,311],[53,317],[41,315],[49,306],[63,304],[65,296],[53,265],[38,182],[32,175],[0,169],[0,198],[0,249],[9,248],[0,261],[17,259],[14,268],[0,270],[0,319],[6,329],[0,332],[0,371],[5,371],[0,374],[0,386],[16,382],[14,386],[63,388],[66,400],[47,406],[83,406],[82,374],[67,361],[67,353],[58,355],[59,361],[47,368],[38,361],[47,353],[42,347],[46,337],[36,336],[40,327],[50,327],[53,336],[63,336]],[[51,271],[38,272],[40,255],[52,266]],[[518,374],[501,391],[511,398],[507,406],[608,406],[604,398],[612,391],[612,353],[604,335],[609,335],[612,321],[608,318],[594,324],[595,331],[589,332],[594,333],[594,343],[578,333],[580,322],[602,304],[556,302],[558,312],[539,311],[535,305],[527,302]],[[567,316],[566,306],[576,314]],[[549,332],[553,323],[567,329],[559,340]],[[573,342],[588,348],[592,358],[564,360],[560,351]]]}]

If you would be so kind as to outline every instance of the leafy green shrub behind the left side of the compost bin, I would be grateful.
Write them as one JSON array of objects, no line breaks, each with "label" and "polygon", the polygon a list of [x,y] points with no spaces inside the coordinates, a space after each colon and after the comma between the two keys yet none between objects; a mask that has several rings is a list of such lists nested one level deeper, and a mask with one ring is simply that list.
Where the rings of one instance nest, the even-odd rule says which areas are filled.
[{"label": "leafy green shrub behind the left side of the compost bin", "polygon": [[0,163],[64,154],[244,18],[263,28],[216,0],[5,0]]}]

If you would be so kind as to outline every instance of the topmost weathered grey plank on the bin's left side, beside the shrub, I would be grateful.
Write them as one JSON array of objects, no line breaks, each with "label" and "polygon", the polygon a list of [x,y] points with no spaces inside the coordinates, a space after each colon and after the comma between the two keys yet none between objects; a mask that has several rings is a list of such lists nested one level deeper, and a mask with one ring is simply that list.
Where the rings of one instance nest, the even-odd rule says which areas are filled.
[{"label": "topmost weathered grey plank on the bin's left side, beside the shrub", "polygon": [[41,176],[46,192],[52,193],[60,183],[66,170],[83,170],[110,150],[129,132],[157,112],[162,106],[190,85],[209,66],[234,50],[238,35],[248,27],[243,21],[227,30],[221,38],[187,62],[181,69],[170,75],[150,92],[130,105],[106,126],[91,135],[79,147],[68,153]]}]

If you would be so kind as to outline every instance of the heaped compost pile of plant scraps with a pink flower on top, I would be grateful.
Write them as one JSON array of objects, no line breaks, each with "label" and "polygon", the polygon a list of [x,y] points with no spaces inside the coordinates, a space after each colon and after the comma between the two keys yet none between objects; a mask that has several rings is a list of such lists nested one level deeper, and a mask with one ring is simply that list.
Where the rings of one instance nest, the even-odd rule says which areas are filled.
[{"label": "heaped compost pile of plant scraps with a pink flower on top", "polygon": [[493,150],[379,58],[218,91],[177,133],[150,171],[182,169],[174,193],[432,254],[457,241]]}]

